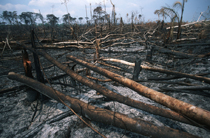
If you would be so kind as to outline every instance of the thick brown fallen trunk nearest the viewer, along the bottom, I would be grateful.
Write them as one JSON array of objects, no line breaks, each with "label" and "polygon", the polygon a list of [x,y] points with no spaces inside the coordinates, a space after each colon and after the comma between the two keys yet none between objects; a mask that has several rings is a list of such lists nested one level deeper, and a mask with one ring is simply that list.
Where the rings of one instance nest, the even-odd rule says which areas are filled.
[{"label": "thick brown fallen trunk nearest the viewer, along the bottom", "polygon": [[[129,118],[124,114],[113,112],[110,110],[98,108],[82,102],[76,98],[67,96],[49,86],[44,85],[34,79],[25,77],[23,75],[10,72],[8,77],[13,80],[25,83],[29,87],[39,91],[40,93],[55,99],[59,102],[65,101],[76,113],[88,118],[91,121],[102,122],[104,124],[113,125],[131,132],[139,133],[149,137],[162,137],[162,138],[194,138],[197,136],[191,135],[186,132],[181,132],[165,126],[157,127],[150,122],[144,120],[135,120]],[[38,87],[37,87],[38,86]]]}]

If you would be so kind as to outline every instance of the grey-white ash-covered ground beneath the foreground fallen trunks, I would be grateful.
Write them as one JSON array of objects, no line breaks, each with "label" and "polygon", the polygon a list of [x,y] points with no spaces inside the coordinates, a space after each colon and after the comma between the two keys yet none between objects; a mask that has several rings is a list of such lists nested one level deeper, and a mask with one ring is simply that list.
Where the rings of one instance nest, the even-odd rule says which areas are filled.
[{"label": "grey-white ash-covered ground beneath the foreground fallen trunks", "polygon": [[[191,49],[191,52],[194,54],[206,54],[210,51],[209,45],[204,46],[185,46],[185,47],[175,47],[177,51],[187,52]],[[174,49],[174,47],[171,47]],[[150,67],[158,67],[168,70],[179,71],[183,73],[189,74],[199,74],[199,73],[207,73],[205,77],[210,77],[210,57],[204,58],[178,58],[172,55],[161,54],[157,51],[154,51],[153,58],[151,62],[146,62],[146,50],[144,46],[140,45],[131,45],[130,47],[123,47],[123,46],[116,46],[110,49],[111,51],[118,51],[116,53],[102,53],[101,57],[109,57],[109,58],[117,58],[126,60],[128,62],[135,62],[136,57],[142,60],[142,65],[147,65]],[[108,49],[107,49],[108,51]],[[128,51],[126,52],[119,52],[119,51]],[[131,51],[134,51],[133,53]],[[137,51],[137,52],[136,52]],[[60,62],[69,61],[66,59],[66,55],[73,55],[78,57],[79,59],[86,60],[90,63],[94,63],[94,49],[85,49],[83,52],[82,50],[46,50],[48,54],[54,57],[56,60]],[[30,60],[33,63],[32,53],[29,52]],[[48,78],[58,76],[61,74],[65,74],[63,71],[58,69],[55,66],[50,66],[46,59],[40,56],[41,64],[44,68],[44,72]],[[95,65],[99,67],[106,68],[112,72],[118,73],[123,75],[127,78],[132,79],[132,72],[133,67],[123,65],[120,63],[113,63],[118,67],[125,68],[126,71],[119,71],[112,69],[111,67],[103,66],[99,63],[95,63]],[[72,67],[75,63],[69,63],[69,66]],[[49,67],[50,66],[50,67]],[[7,89],[15,86],[21,86],[22,83],[19,83],[14,80],[10,80],[7,78],[7,74],[10,71],[24,74],[24,69],[22,66],[22,57],[21,57],[21,50],[13,50],[10,52],[8,49],[4,53],[3,59],[1,59],[0,63],[0,89]],[[80,65],[76,65],[75,71],[82,69],[84,67]],[[35,76],[35,70],[33,65],[33,74]],[[80,73],[80,75],[85,76],[85,72]],[[98,73],[94,73],[91,71],[91,75],[96,78],[106,79],[105,77],[101,76]],[[160,87],[175,87],[180,86],[178,84],[173,83],[157,83],[154,81],[148,80],[148,78],[164,78],[170,77],[170,75],[166,75],[159,72],[152,72],[148,70],[142,70],[139,75],[139,80],[144,80],[144,82],[139,82],[149,88],[152,88],[157,91],[161,91]],[[95,80],[91,80],[96,82]],[[177,78],[167,80],[168,82],[185,82],[191,83],[195,85],[206,85],[209,84],[196,81],[189,78]],[[210,132],[203,128],[198,128],[195,126],[187,125],[184,123],[180,123],[171,119],[167,119],[164,117],[160,117],[157,115],[153,115],[147,113],[145,111],[135,109],[133,107],[121,104],[116,101],[104,101],[103,95],[97,95],[97,92],[93,89],[88,88],[87,86],[82,85],[81,83],[77,82],[77,90],[72,87],[64,86],[61,84],[55,83],[65,83],[71,84],[71,78],[69,76],[60,78],[59,80],[51,81],[52,86],[54,89],[65,93],[71,97],[78,98],[86,103],[91,103],[92,105],[110,109],[115,112],[119,112],[125,114],[131,118],[141,118],[146,121],[152,122],[156,126],[168,126],[174,129],[178,129],[184,132],[188,132],[193,135],[197,135],[202,138],[210,137]],[[162,105],[143,97],[137,94],[135,91],[117,83],[117,82],[96,82],[101,84],[113,92],[119,93],[123,96],[127,96],[129,98],[139,100],[141,102],[145,102],[147,104],[151,104],[158,107],[163,107]],[[49,84],[46,84],[49,86]],[[20,87],[16,88],[15,90],[8,91],[4,94],[0,94],[0,137],[1,138],[23,138],[23,137],[34,137],[34,138],[90,138],[90,137],[101,137],[91,128],[87,127],[82,121],[73,113],[69,111],[67,107],[58,103],[55,100],[38,100],[34,101],[33,103],[26,101],[26,92],[27,87]],[[210,111],[210,91],[209,90],[197,90],[194,93],[190,93],[190,91],[168,91],[163,93],[170,95],[174,98],[182,100],[184,102],[190,103],[192,105],[201,107]],[[203,96],[199,93],[206,93],[206,96]],[[37,112],[33,118],[34,112]],[[166,108],[166,107],[163,107]],[[33,118],[33,120],[32,120]],[[105,135],[108,138],[144,138],[145,136],[136,134],[133,132],[129,132],[123,129],[119,129],[113,126],[105,125],[98,122],[89,122],[92,127],[98,130],[100,133]]]}]

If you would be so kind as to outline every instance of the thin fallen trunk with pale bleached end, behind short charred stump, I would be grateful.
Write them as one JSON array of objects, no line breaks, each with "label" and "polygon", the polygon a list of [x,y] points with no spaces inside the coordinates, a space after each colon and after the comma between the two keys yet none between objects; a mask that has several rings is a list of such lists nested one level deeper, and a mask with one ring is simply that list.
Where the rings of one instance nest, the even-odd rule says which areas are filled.
[{"label": "thin fallen trunk with pale bleached end, behind short charred stump", "polygon": [[[102,60],[119,62],[119,63],[126,64],[129,66],[135,66],[135,63],[131,63],[131,62],[127,62],[127,61],[119,60],[119,59],[108,58],[108,59],[102,59]],[[187,74],[187,73],[181,73],[181,72],[177,72],[177,71],[170,71],[170,70],[166,70],[166,69],[153,68],[153,67],[148,67],[148,66],[143,66],[143,65],[141,65],[141,67],[142,67],[142,69],[145,69],[145,70],[151,70],[151,71],[155,71],[155,72],[177,75],[177,76],[181,76],[181,77],[187,77],[187,78],[191,78],[191,79],[195,79],[195,80],[204,81],[206,83],[210,83],[210,78],[207,78],[207,77],[202,77],[202,76],[192,75],[192,74]]]}]

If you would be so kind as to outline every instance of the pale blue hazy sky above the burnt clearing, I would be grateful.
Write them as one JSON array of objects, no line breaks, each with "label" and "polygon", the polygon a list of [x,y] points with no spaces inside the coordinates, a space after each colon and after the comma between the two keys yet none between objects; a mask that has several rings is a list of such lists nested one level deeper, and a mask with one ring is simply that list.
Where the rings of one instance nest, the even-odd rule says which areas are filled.
[{"label": "pale blue hazy sky above the burnt clearing", "polygon": [[[106,12],[111,15],[112,5],[110,0],[66,0],[68,11],[72,17],[86,17],[87,6],[87,17],[90,19],[90,3],[92,11],[99,4],[101,4],[103,10],[104,3],[106,5]],[[145,22],[156,21],[158,16],[154,14],[154,11],[160,9],[162,6],[173,6],[177,0],[112,0],[115,5],[116,17],[122,17],[124,22],[127,20],[127,14],[129,17],[134,12],[136,15],[141,14],[142,20]],[[44,17],[47,14],[54,14],[55,16],[62,19],[62,15],[67,13],[64,0],[0,0],[0,14],[3,11],[17,11],[17,14],[22,12],[35,12],[41,13]],[[180,0],[182,2],[182,0]],[[207,10],[210,6],[210,0],[188,0],[185,3],[183,20],[192,22],[196,21],[201,12]],[[176,9],[178,14],[181,14],[181,9]],[[162,19],[162,18],[161,18]],[[203,20],[203,18],[201,18]],[[166,21],[170,21],[168,18]]]}]

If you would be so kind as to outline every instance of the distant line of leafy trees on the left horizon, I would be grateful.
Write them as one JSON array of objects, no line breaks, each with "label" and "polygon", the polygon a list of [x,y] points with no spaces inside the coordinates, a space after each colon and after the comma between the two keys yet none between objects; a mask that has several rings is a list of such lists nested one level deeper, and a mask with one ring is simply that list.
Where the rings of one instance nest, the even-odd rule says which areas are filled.
[{"label": "distant line of leafy trees on the left horizon", "polygon": [[[97,22],[109,21],[109,14],[106,14],[102,10],[101,6],[98,6],[93,10],[93,19]],[[68,24],[68,18],[71,24],[80,23],[82,24],[83,17],[79,17],[78,20],[75,17],[72,17],[69,13],[64,14],[60,22],[63,24]],[[34,12],[22,12],[20,15],[17,14],[17,11],[3,11],[0,14],[0,24],[1,25],[30,25],[35,26],[39,24],[49,24],[55,26],[59,23],[59,17],[56,17],[54,14],[47,14],[46,18],[43,17],[41,13]],[[87,23],[91,21],[88,20],[88,17],[85,17]]]}]

